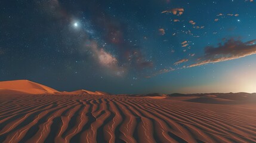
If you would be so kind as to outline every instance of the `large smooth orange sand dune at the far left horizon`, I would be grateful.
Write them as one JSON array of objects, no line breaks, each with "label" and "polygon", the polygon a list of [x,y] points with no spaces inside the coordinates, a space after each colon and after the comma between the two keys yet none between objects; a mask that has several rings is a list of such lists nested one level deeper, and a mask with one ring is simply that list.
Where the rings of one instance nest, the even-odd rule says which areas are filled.
[{"label": "large smooth orange sand dune at the far left horizon", "polygon": [[0,95],[14,94],[56,94],[58,91],[29,80],[0,82]]}]

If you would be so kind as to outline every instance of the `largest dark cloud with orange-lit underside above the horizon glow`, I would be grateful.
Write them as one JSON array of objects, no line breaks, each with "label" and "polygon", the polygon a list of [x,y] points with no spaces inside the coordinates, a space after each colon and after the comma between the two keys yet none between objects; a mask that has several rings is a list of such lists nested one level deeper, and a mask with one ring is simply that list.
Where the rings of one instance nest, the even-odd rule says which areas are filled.
[{"label": "largest dark cloud with orange-lit underside above the horizon glow", "polygon": [[198,63],[192,64],[188,67],[234,60],[236,58],[242,58],[248,55],[256,54],[256,44],[254,42],[256,42],[256,39],[248,42],[229,39],[223,45],[219,43],[217,48],[213,46],[207,46],[205,48],[205,55],[199,58]]}]

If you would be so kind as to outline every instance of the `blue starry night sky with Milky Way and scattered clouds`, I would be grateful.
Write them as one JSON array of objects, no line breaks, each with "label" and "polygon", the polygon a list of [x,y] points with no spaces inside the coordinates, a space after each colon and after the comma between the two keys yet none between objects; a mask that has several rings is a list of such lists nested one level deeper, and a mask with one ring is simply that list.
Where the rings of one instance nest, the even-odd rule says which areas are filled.
[{"label": "blue starry night sky with Milky Way and scattered clouds", "polygon": [[0,80],[112,94],[256,92],[256,1],[0,1]]}]

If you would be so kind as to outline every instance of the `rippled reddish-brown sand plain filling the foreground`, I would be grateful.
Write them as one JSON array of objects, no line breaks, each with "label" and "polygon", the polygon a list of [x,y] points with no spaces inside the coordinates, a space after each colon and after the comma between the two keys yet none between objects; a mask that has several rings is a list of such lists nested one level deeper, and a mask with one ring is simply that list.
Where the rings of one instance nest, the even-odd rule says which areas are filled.
[{"label": "rippled reddish-brown sand plain filling the foreground", "polygon": [[256,103],[228,97],[0,95],[0,142],[256,142]]}]

